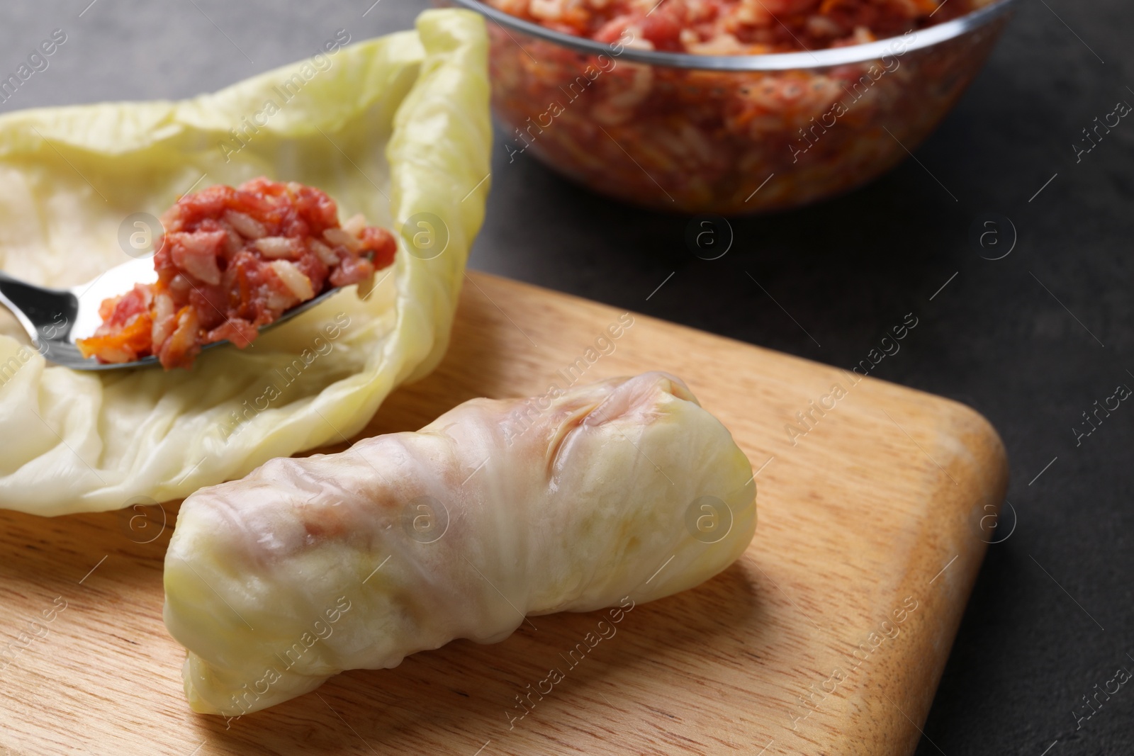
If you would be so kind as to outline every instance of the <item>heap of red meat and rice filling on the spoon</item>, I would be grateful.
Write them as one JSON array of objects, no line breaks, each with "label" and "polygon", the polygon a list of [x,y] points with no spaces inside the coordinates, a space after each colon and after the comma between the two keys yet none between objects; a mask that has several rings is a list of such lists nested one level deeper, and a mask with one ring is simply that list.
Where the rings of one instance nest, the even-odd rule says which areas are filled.
[{"label": "heap of red meat and rice filling on the spoon", "polygon": [[161,222],[158,281],[102,303],[103,324],[78,341],[85,357],[154,355],[169,369],[189,367],[214,341],[243,349],[296,305],[371,279],[397,250],[393,235],[362,215],[340,226],[319,189],[266,178],[187,194]]}]

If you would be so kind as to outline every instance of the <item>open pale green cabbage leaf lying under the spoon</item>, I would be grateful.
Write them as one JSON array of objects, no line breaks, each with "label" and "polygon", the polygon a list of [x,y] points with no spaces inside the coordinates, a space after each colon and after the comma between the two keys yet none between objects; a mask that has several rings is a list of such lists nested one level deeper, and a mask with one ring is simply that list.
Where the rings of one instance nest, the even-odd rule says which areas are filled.
[{"label": "open pale green cabbage leaf lying under the spoon", "polygon": [[128,262],[132,216],[256,176],[327,192],[395,229],[373,290],[349,287],[188,371],[49,366],[0,312],[0,507],[39,515],[166,501],[358,432],[440,360],[488,193],[483,20],[324,52],[181,102],[0,118],[0,267],[54,287]]}]

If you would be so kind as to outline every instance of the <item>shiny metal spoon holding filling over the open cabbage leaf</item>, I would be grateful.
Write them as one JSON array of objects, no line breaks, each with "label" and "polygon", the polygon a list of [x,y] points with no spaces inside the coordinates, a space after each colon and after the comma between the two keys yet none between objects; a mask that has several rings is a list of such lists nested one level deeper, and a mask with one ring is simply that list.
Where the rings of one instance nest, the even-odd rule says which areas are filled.
[{"label": "shiny metal spoon holding filling over the open cabbage leaf", "polygon": [[[76,340],[94,334],[102,325],[99,305],[108,297],[125,294],[135,283],[153,283],[158,272],[153,260],[134,260],[112,267],[93,281],[69,289],[48,289],[25,283],[0,272],[0,304],[5,305],[32,337],[36,349],[46,359],[76,371],[113,371],[127,367],[149,367],[158,364],[156,357],[144,357],[133,363],[100,363],[94,357],[83,357],[75,346]],[[279,318],[260,330],[266,330],[306,312],[323,301],[338,288],[331,288],[314,299],[308,299],[287,311]],[[206,343],[202,349],[211,349],[225,341]]]}]

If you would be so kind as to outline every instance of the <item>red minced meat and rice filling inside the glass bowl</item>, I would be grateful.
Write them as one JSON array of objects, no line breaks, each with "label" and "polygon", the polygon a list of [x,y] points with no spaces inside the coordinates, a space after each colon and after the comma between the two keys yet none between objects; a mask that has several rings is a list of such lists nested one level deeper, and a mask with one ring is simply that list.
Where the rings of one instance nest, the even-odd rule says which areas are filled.
[{"label": "red minced meat and rice filling inside the glass bowl", "polygon": [[[484,0],[602,53],[489,25],[509,161],[531,151],[602,194],[665,211],[780,210],[850,189],[907,155],[979,70],[1004,20],[931,45],[926,27],[991,0]],[[889,40],[888,52],[787,70],[684,68],[627,50],[752,56]]]}]

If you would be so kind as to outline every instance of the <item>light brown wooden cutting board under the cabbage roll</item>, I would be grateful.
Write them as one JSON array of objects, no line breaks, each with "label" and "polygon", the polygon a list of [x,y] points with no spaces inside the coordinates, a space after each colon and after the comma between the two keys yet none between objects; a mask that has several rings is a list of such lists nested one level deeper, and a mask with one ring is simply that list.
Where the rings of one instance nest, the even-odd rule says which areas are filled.
[{"label": "light brown wooden cutting board under the cabbage roll", "polygon": [[[472,273],[445,362],[364,435],[542,394],[572,365],[584,382],[670,371],[758,472],[756,536],[725,572],[635,606],[574,668],[561,654],[596,613],[348,672],[226,724],[189,711],[161,620],[176,504],[0,512],[0,754],[913,753],[1004,496],[996,432],[953,401],[642,315],[602,340],[621,315]],[[509,728],[552,668],[565,679]]]}]

